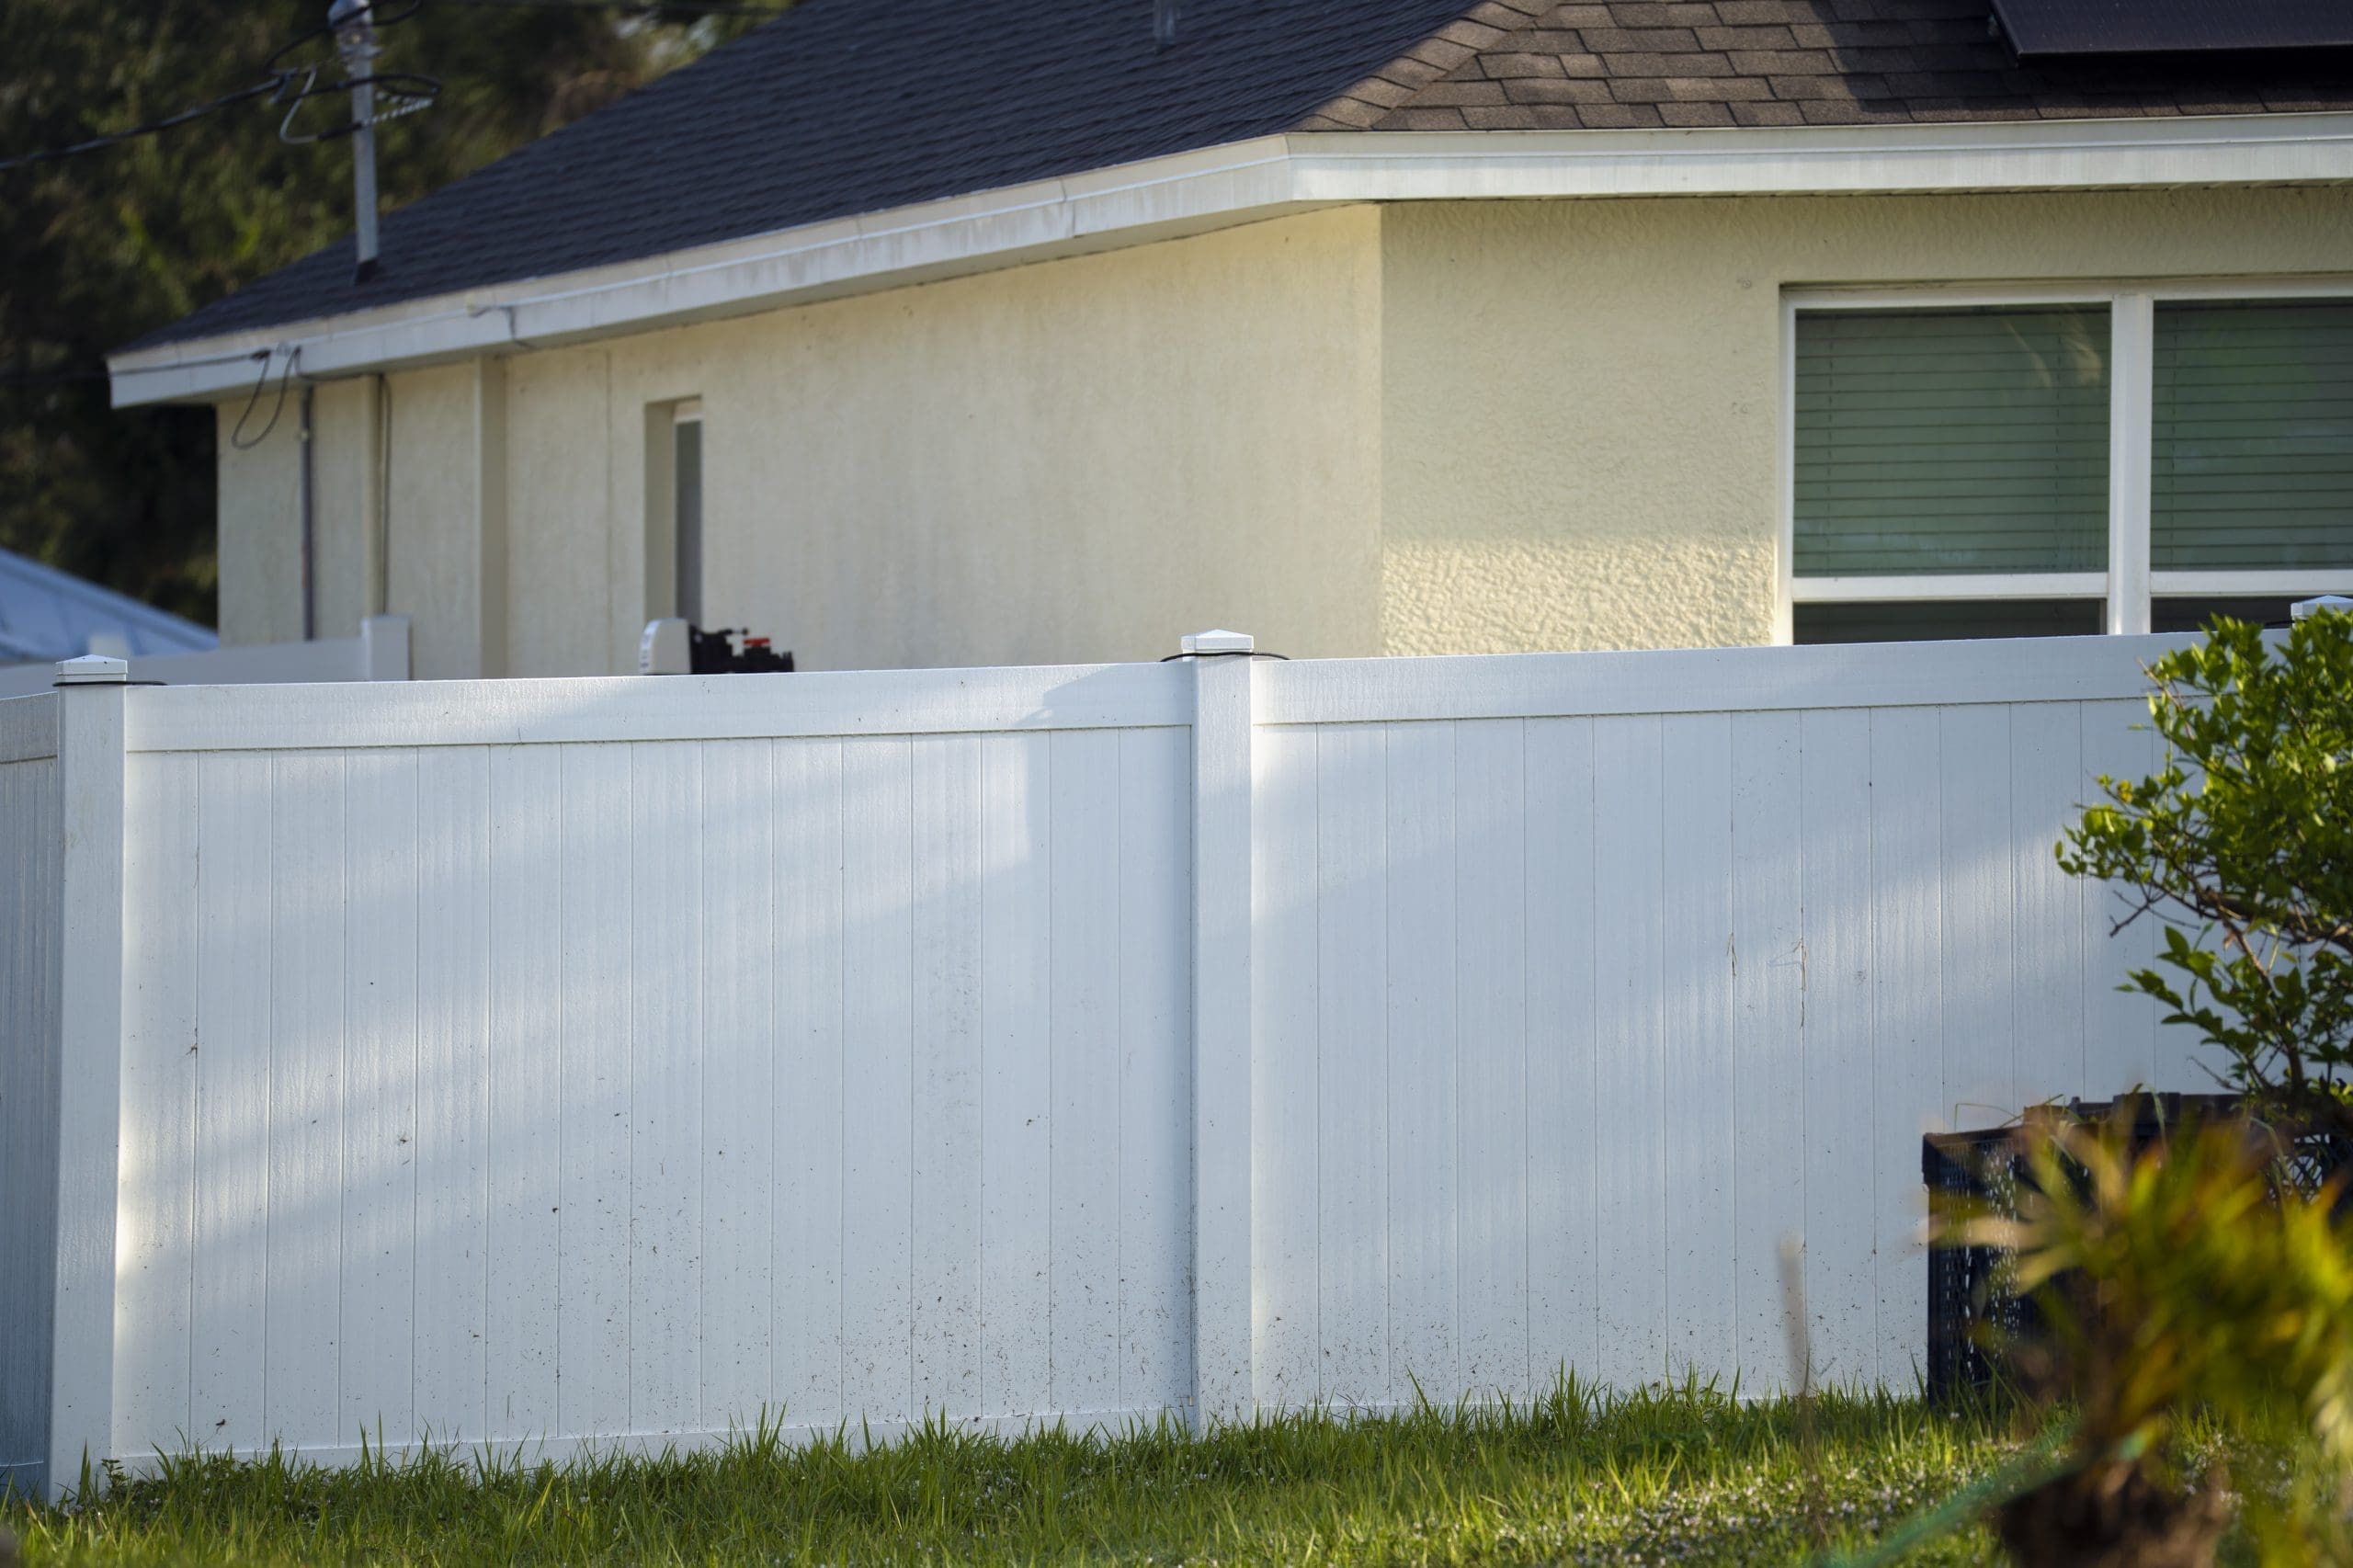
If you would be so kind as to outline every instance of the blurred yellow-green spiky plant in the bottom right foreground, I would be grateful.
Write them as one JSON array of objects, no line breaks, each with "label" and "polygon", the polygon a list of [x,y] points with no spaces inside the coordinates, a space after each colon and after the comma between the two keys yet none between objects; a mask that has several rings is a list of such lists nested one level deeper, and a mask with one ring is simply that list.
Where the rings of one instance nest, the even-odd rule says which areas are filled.
[{"label": "blurred yellow-green spiky plant in the bottom right foreground", "polygon": [[[2031,1389],[2073,1413],[2068,1464],[2002,1509],[2012,1554],[2040,1563],[2212,1561],[2221,1476],[2193,1486],[2191,1420],[2238,1434],[2301,1427],[2325,1471],[2353,1476],[2353,1220],[2337,1191],[2278,1180],[2259,1123],[2186,1125],[2134,1147],[2108,1123],[2038,1116],[2014,1215],[1960,1215],[1958,1245],[2014,1253],[2042,1333],[2014,1349]],[[2257,1507],[2271,1561],[2318,1561],[2346,1495]]]}]

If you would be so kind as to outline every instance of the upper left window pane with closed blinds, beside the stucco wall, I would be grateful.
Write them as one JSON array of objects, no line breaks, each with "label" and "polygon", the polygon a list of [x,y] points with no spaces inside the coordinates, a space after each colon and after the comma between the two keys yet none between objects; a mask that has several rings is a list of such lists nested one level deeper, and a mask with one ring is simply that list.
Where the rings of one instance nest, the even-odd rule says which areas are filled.
[{"label": "upper left window pane with closed blinds, beside the stucco wall", "polygon": [[2108,311],[1798,318],[1800,577],[2101,572]]}]

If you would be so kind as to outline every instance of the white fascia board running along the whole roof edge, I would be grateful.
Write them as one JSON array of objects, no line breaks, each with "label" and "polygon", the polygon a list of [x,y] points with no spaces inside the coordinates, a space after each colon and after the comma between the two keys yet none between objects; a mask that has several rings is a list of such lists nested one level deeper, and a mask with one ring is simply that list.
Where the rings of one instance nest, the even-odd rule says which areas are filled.
[{"label": "white fascia board running along the whole roof edge", "polygon": [[2353,181],[2353,115],[1668,132],[1299,132],[108,360],[118,407],[616,337],[1388,200]]}]

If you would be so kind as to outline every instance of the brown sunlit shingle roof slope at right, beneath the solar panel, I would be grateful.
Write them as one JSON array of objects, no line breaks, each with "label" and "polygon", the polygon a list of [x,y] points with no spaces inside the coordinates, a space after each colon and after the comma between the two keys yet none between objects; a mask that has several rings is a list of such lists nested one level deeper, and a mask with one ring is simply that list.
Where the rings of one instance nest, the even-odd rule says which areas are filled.
[{"label": "brown sunlit shingle roof slope at right, beneath the solar panel", "polygon": [[2344,54],[2021,66],[1991,0],[1487,0],[1301,129],[1628,129],[2353,108]]}]

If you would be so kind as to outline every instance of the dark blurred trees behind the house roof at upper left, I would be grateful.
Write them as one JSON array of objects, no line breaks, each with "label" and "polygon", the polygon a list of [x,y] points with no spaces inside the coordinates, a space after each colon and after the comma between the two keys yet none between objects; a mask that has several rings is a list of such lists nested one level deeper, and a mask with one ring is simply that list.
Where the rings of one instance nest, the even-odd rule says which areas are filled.
[{"label": "dark blurred trees behind the house roof at upper left", "polygon": [[[7,0],[0,158],[264,80],[327,0]],[[744,16],[431,0],[381,71],[445,82],[381,132],[386,207],[574,120]],[[296,59],[332,59],[315,40]],[[325,73],[320,80],[334,80]],[[348,99],[304,106],[311,127]],[[108,407],[104,356],[351,231],[351,146],[278,139],[266,99],[155,139],[0,172],[0,546],[200,622],[214,614],[209,410]]]}]

